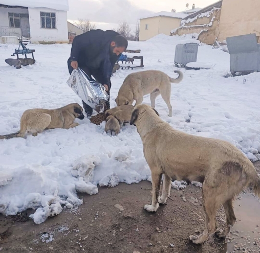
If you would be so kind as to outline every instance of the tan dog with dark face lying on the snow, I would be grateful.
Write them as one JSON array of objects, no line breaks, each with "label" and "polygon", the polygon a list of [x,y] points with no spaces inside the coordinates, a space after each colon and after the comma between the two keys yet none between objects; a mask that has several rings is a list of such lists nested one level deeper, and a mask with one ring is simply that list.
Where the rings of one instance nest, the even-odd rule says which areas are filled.
[{"label": "tan dog with dark face lying on the snow", "polygon": [[25,137],[26,132],[33,136],[45,129],[76,127],[79,124],[74,120],[84,119],[83,109],[79,104],[69,104],[58,109],[29,109],[21,116],[20,130],[16,133],[1,135],[0,139]]}]

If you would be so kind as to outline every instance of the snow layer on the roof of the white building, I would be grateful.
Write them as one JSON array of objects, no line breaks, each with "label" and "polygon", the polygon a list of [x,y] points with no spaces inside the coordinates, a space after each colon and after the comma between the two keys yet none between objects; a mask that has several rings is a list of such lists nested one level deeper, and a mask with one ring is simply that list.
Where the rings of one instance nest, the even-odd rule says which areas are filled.
[{"label": "snow layer on the roof of the white building", "polygon": [[58,11],[68,11],[68,0],[0,0],[1,5],[22,6],[28,8],[45,7]]}]

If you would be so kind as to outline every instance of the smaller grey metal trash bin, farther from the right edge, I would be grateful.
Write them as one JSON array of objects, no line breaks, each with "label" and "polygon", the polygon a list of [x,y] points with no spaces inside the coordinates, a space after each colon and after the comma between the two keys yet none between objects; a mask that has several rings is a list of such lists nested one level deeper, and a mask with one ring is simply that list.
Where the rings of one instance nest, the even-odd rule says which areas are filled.
[{"label": "smaller grey metal trash bin, farther from the right edge", "polygon": [[175,49],[175,65],[185,66],[189,62],[197,61],[198,43],[177,44]]}]

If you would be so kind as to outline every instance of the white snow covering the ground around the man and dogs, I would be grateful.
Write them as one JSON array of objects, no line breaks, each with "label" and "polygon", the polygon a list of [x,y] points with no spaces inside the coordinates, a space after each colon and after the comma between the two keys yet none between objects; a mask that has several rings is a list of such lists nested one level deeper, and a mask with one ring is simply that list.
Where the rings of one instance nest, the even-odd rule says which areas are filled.
[{"label": "white snow covering the ground around the man and dogs", "polygon": [[[129,49],[141,49],[145,70],[174,73],[175,45],[180,39],[158,35],[145,42],[129,42]],[[66,84],[67,59],[71,45],[33,45],[37,62],[20,70],[5,63],[16,45],[0,45],[0,134],[19,130],[21,114],[29,108],[58,108],[80,99]],[[131,54],[130,54],[131,55]],[[156,100],[160,116],[172,127],[187,133],[227,140],[251,160],[260,153],[260,73],[225,78],[230,57],[209,45],[200,45],[198,61],[210,70],[184,72],[180,84],[172,84],[173,116],[161,97]],[[111,107],[127,74],[140,70],[119,70],[112,78]],[[144,103],[150,104],[149,96]],[[77,120],[73,129],[48,130],[27,139],[0,141],[0,213],[15,215],[28,208],[41,223],[63,208],[81,204],[78,192],[96,194],[97,185],[115,186],[148,179],[142,142],[134,126],[125,126],[118,136],[104,133],[88,119]],[[188,154],[187,154],[188,155]],[[177,184],[178,185],[178,184]]]}]

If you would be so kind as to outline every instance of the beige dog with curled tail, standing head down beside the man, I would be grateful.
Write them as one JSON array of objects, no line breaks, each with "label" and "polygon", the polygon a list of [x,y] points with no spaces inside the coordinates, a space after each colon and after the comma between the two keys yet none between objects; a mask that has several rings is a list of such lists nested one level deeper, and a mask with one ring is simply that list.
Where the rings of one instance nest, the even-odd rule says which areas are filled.
[{"label": "beige dog with curled tail, standing head down beside the man", "polygon": [[155,70],[129,74],[118,91],[118,96],[116,98],[117,105],[132,105],[135,100],[136,106],[143,102],[144,95],[150,94],[151,107],[155,108],[155,99],[161,94],[168,106],[169,117],[171,117],[170,83],[180,83],[183,79],[181,71],[175,71],[175,73],[179,74],[177,79],[171,78],[165,73]]}]

